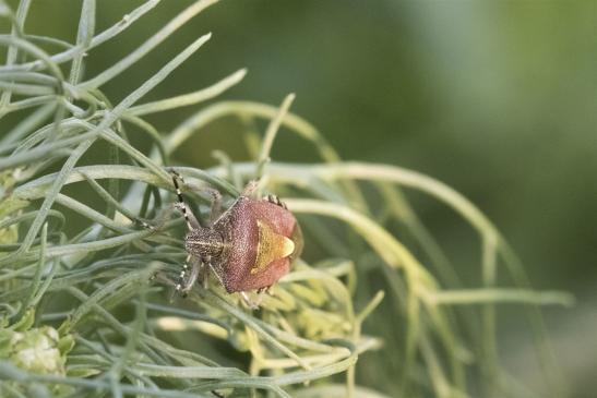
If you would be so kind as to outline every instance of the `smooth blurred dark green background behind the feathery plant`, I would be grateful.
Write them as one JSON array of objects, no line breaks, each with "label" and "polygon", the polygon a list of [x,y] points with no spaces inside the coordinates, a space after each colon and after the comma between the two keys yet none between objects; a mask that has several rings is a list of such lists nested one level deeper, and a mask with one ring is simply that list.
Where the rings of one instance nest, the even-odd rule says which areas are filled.
[{"label": "smooth blurred dark green background behind the feathery plant", "polygon": [[[96,31],[141,3],[99,1]],[[189,3],[163,1],[123,40],[94,50],[86,76],[138,47]],[[74,41],[80,4],[34,1],[26,32]],[[594,394],[597,2],[222,1],[105,86],[106,93],[114,101],[122,98],[207,32],[214,36],[205,48],[147,100],[248,68],[244,81],[220,98],[278,105],[294,92],[292,111],[318,126],[345,159],[411,168],[462,192],[510,240],[534,287],[576,296],[574,309],[545,313],[572,395]],[[195,110],[151,121],[169,131]],[[234,147],[239,131],[230,122],[214,124],[178,158],[213,165],[211,152]],[[308,146],[280,134],[273,157],[317,160],[303,149]],[[242,148],[230,155],[248,159]],[[410,198],[464,279],[478,286],[476,237],[443,205]],[[540,384],[529,369],[526,324],[512,307],[504,306],[503,314],[508,367]]]}]

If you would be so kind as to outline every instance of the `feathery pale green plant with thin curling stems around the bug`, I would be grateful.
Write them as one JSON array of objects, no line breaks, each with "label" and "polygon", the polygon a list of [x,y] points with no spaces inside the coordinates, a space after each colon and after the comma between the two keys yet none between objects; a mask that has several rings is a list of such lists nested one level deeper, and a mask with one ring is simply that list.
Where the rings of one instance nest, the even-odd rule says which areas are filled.
[{"label": "feathery pale green plant with thin curling stems around the bug", "polygon": [[[194,93],[138,104],[211,34],[192,41],[118,104],[102,92],[104,84],[215,2],[194,2],[86,81],[85,55],[118,39],[157,1],[143,3],[99,34],[95,1],[83,1],[74,45],[27,35],[29,1],[21,1],[15,13],[2,5],[13,27],[0,35],[0,44],[8,47],[5,65],[0,67],[0,114],[19,116],[15,125],[4,126],[0,141],[3,396],[520,394],[499,363],[494,304],[532,304],[529,318],[542,343],[540,316],[533,305],[569,305],[571,298],[530,290],[504,239],[462,195],[409,170],[343,162],[312,125],[288,112],[294,95],[279,109],[250,101],[216,102],[199,108],[171,132],[158,132],[143,117],[196,106],[244,76],[241,70]],[[56,47],[62,49],[49,52]],[[188,138],[222,118],[247,123],[243,144],[254,152],[255,162],[235,162],[223,148],[218,167],[177,167],[199,213],[210,205],[203,188],[218,189],[230,202],[247,181],[261,177],[260,191],[288,197],[313,246],[274,287],[273,296],[263,298],[259,311],[227,294],[214,278],[207,288],[196,286],[187,301],[169,302],[165,294],[186,257],[183,224],[168,210],[174,197],[166,167]],[[263,140],[249,128],[258,119],[270,120]],[[312,143],[323,162],[272,162],[279,129]],[[148,154],[131,143],[131,134],[147,137]],[[109,147],[107,156],[84,161],[99,145]],[[71,184],[84,186],[83,194],[65,189]],[[478,232],[481,287],[462,286],[403,188],[444,202]],[[103,203],[104,210],[84,203],[91,197]],[[65,224],[74,217],[82,217],[85,228],[69,234]],[[141,228],[139,220],[157,231]],[[410,236],[413,248],[389,232],[394,221]],[[497,285],[502,265],[518,288]],[[479,304],[480,312],[462,309]],[[375,311],[379,305],[384,305],[382,313]],[[397,343],[380,338],[387,328]],[[384,349],[370,357],[377,362],[368,362],[369,351],[383,343],[399,348]],[[51,363],[21,360],[24,352],[40,347],[49,350]],[[366,365],[359,367],[357,360]],[[386,365],[396,362],[398,374]],[[545,363],[549,367],[549,359]],[[359,373],[368,372],[365,367],[374,369],[385,383],[358,386]],[[551,371],[546,372],[550,377]]]}]

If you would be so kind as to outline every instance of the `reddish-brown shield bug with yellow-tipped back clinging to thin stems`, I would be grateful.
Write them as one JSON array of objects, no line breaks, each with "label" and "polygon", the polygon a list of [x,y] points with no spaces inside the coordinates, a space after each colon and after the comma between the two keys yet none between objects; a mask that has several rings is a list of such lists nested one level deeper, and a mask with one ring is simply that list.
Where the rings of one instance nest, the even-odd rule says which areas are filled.
[{"label": "reddish-brown shield bug with yellow-tipped back clinging to thin stems", "polygon": [[297,219],[277,196],[252,198],[255,184],[250,183],[228,209],[218,214],[222,196],[214,190],[212,217],[203,227],[184,202],[179,181],[184,183],[172,171],[176,207],[188,227],[188,256],[177,291],[189,291],[200,274],[205,284],[211,269],[228,293],[240,292],[250,303],[247,291],[267,289],[290,270],[302,250],[302,234]]}]

